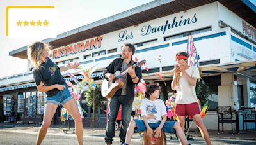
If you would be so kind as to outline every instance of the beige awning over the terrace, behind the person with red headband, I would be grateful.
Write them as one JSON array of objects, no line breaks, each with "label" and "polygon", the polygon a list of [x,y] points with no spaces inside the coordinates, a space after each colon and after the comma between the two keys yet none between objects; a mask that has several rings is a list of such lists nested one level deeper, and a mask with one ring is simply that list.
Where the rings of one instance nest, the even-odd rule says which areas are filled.
[{"label": "beige awning over the terrace, behind the person with red headband", "polygon": [[[200,76],[211,76],[221,73],[232,73],[250,78],[251,81],[256,81],[256,60],[237,61],[225,64],[210,64],[199,66]],[[173,77],[173,71],[161,72],[164,80],[170,80]],[[146,81],[161,81],[156,73],[143,74],[143,79]]]}]

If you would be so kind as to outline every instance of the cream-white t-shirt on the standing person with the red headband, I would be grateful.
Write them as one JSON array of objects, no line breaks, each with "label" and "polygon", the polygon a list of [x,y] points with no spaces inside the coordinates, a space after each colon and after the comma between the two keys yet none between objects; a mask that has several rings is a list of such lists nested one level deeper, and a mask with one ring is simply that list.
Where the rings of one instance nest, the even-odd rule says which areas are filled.
[{"label": "cream-white t-shirt on the standing person with the red headband", "polygon": [[[199,70],[197,67],[191,66],[185,70],[192,78],[200,78]],[[173,77],[174,78],[174,77]],[[190,104],[197,102],[196,86],[189,84],[188,79],[184,76],[180,76],[179,86],[176,89],[177,95],[175,103],[177,104]]]}]

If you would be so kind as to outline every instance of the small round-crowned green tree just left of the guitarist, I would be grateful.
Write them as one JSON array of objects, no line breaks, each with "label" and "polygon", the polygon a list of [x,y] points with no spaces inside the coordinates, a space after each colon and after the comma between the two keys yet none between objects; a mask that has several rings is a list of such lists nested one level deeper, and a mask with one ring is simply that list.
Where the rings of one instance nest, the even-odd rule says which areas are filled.
[{"label": "small round-crowned green tree just left of the guitarist", "polygon": [[85,92],[85,100],[87,102],[87,105],[90,107],[93,107],[92,111],[92,128],[94,127],[94,120],[95,120],[95,110],[98,109],[98,107],[104,106],[104,100],[106,100],[101,95],[101,89],[100,85],[96,85],[94,87],[90,87],[87,92]]}]

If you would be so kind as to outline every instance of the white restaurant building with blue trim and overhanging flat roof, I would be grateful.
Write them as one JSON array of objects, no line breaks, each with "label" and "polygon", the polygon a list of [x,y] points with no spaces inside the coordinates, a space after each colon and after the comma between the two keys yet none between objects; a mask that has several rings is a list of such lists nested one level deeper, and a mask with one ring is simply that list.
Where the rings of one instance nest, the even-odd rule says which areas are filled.
[{"label": "white restaurant building with blue trim and overhanging flat roof", "polygon": [[[236,4],[226,1],[198,1],[186,1],[183,4],[180,1],[153,1],[134,8],[129,13],[124,11],[60,34],[56,39],[45,39],[44,42],[53,46],[51,59],[58,66],[75,61],[81,62],[81,67],[84,68],[99,64],[97,72],[92,76],[99,84],[102,81],[102,71],[120,56],[122,45],[132,43],[136,46],[134,57],[147,60],[146,66],[150,69],[143,69],[143,79],[147,83],[159,82],[162,88],[161,99],[167,99],[168,94],[172,93],[170,83],[175,53],[186,51],[188,36],[191,34],[200,54],[200,75],[212,92],[209,97],[211,111],[204,121],[207,127],[216,129],[217,106],[232,106],[232,109],[255,106],[252,90],[256,82],[256,17],[252,16],[255,15],[256,8],[253,4],[250,5],[250,1],[239,1]],[[237,10],[239,6],[243,8],[243,13]],[[10,55],[26,59],[26,47],[14,50]],[[29,66],[30,62],[28,71]],[[68,72],[78,75],[74,70]],[[156,72],[162,74],[166,86],[156,76]],[[63,75],[67,76],[65,73]],[[29,83],[33,85],[26,86]],[[19,112],[20,118],[23,115],[24,120],[26,116],[29,120],[42,119],[45,96],[38,99],[38,96],[43,95],[36,92],[31,72],[0,78],[0,84],[1,95],[10,98],[10,95],[16,94],[14,98],[21,99],[17,101],[20,106],[24,99],[24,111]],[[22,88],[15,87],[24,87],[29,91],[21,91]],[[37,97],[33,99],[35,95]],[[37,102],[29,104],[33,101]],[[81,102],[85,108],[86,103],[84,100]],[[8,108],[9,106],[8,104]],[[104,111],[99,110],[99,116],[104,116]]]}]

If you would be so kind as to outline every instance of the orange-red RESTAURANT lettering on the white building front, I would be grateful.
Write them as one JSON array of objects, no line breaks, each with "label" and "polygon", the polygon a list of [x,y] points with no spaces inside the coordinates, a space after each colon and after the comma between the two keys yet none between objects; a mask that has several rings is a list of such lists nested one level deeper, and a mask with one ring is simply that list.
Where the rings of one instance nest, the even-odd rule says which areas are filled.
[{"label": "orange-red RESTAURANT lettering on the white building front", "polygon": [[68,55],[74,55],[76,53],[85,52],[86,50],[92,50],[101,47],[102,37],[98,37],[95,39],[90,39],[87,41],[83,41],[80,43],[75,43],[73,45],[63,46],[62,48],[58,48],[53,50],[52,59],[58,59],[60,57],[65,57]]}]

